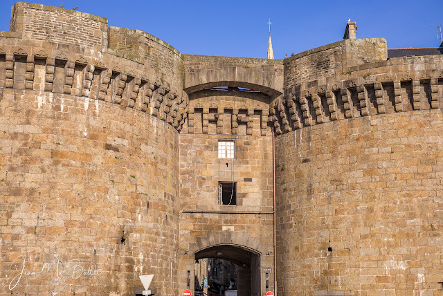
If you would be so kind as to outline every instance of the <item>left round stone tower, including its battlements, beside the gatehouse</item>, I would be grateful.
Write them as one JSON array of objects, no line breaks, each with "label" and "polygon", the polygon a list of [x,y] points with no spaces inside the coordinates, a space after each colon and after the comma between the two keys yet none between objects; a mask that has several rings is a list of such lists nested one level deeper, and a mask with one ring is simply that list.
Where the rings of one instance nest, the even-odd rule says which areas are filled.
[{"label": "left round stone tower, including its battlements, beside the gatehouse", "polygon": [[131,295],[149,273],[157,294],[175,295],[180,53],[63,8],[17,3],[11,24],[0,294]]}]

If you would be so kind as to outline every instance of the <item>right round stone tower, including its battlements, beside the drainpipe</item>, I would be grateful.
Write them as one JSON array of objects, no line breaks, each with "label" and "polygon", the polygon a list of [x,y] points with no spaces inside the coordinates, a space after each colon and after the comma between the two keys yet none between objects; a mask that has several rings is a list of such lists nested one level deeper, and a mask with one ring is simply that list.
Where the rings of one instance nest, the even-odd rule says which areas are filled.
[{"label": "right round stone tower, including its battlements, beside the drainpipe", "polygon": [[384,42],[284,61],[271,110],[280,295],[440,293],[443,59],[386,59]]}]

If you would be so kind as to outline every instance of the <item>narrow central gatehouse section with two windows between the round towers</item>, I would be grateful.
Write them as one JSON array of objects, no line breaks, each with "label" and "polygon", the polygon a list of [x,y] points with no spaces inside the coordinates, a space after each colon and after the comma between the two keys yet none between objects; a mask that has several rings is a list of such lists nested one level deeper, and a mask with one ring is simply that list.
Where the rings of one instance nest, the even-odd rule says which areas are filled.
[{"label": "narrow central gatehouse section with two windows between the round towers", "polygon": [[269,105],[282,96],[275,76],[281,61],[190,55],[183,61],[188,120],[179,137],[179,288],[264,295],[274,290]]}]

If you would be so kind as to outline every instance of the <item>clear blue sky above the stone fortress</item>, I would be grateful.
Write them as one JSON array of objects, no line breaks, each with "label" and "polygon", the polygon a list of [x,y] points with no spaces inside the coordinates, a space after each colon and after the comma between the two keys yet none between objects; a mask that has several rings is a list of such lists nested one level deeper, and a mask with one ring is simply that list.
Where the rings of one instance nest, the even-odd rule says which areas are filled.
[{"label": "clear blue sky above the stone fortress", "polygon": [[[9,30],[10,8],[0,1],[0,30]],[[144,30],[181,53],[266,57],[268,25],[275,59],[343,39],[347,19],[358,38],[383,37],[388,48],[440,45],[431,24],[443,24],[443,0],[242,1],[242,0],[36,0],[107,17],[109,26]]]}]

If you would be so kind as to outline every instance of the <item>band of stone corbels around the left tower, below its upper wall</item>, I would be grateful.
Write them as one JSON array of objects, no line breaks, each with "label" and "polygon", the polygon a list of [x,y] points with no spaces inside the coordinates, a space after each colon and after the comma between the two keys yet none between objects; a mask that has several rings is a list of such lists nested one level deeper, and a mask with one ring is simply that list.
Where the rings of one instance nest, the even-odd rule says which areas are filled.
[{"label": "band of stone corbels around the left tower, below its upper wall", "polygon": [[[0,45],[1,46],[1,45]],[[0,87],[44,91],[102,100],[153,115],[177,130],[183,125],[186,98],[168,83],[152,81],[144,71],[98,59],[36,52],[35,48],[0,47]],[[69,57],[68,57],[69,56]]]}]

